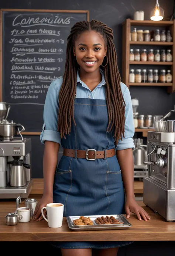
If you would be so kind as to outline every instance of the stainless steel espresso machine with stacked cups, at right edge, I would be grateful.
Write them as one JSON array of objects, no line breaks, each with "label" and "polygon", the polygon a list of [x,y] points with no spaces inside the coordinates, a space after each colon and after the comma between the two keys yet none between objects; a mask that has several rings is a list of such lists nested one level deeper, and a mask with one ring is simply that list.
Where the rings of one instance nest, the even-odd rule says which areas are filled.
[{"label": "stainless steel espresso machine with stacked cups, at right edge", "polygon": [[148,132],[148,177],[144,178],[143,202],[167,221],[175,221],[175,120],[165,120],[171,110]]}]

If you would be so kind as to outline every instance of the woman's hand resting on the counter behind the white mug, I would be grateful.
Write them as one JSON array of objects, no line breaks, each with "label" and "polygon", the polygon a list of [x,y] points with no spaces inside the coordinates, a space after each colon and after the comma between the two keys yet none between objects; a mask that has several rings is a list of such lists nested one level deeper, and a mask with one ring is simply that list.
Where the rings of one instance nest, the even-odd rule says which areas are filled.
[{"label": "woman's hand resting on the counter behind the white mug", "polygon": [[[53,203],[53,197],[50,195],[43,195],[41,200],[35,207],[34,214],[32,216],[32,221],[41,221],[43,216],[41,214],[42,207],[46,207],[47,204]],[[43,211],[44,216],[46,215],[46,210]]]}]

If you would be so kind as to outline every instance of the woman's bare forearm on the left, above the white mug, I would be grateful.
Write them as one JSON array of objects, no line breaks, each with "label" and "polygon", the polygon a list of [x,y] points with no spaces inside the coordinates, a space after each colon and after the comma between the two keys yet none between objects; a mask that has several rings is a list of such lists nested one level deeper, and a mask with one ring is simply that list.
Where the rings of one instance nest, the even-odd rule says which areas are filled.
[{"label": "woman's bare forearm on the left, above the white mug", "polygon": [[43,195],[53,196],[54,174],[58,161],[59,144],[45,141],[43,157],[44,191]]}]

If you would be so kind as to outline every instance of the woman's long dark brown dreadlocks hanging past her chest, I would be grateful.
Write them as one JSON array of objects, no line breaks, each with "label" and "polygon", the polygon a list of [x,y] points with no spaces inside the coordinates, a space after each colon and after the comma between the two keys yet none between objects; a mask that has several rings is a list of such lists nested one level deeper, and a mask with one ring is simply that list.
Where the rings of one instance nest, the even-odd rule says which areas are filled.
[{"label": "woman's long dark brown dreadlocks hanging past her chest", "polygon": [[59,92],[58,131],[61,134],[61,138],[65,138],[65,134],[70,134],[71,132],[72,120],[76,125],[74,119],[74,99],[76,95],[76,75],[79,66],[76,62],[76,57],[73,55],[73,45],[78,35],[84,31],[90,30],[95,30],[100,33],[105,41],[105,45],[107,45],[106,58],[104,58],[106,63],[102,66],[106,81],[106,100],[109,117],[107,132],[113,131],[117,144],[118,140],[122,139],[122,136],[124,137],[125,102],[121,92],[121,78],[117,67],[117,55],[113,43],[113,30],[107,27],[106,24],[97,20],[77,22],[72,27],[68,37],[65,72]]}]

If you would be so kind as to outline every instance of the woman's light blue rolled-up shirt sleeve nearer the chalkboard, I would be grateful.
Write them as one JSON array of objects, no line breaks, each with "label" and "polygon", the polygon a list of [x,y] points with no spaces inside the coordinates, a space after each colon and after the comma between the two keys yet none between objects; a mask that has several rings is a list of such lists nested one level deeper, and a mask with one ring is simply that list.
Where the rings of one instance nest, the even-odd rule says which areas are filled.
[{"label": "woman's light blue rolled-up shirt sleeve nearer the chalkboard", "polygon": [[42,144],[44,144],[46,140],[61,144],[61,136],[57,131],[58,110],[59,92],[56,86],[56,82],[52,81],[48,88],[44,104],[44,124],[42,126],[42,132],[40,135]]}]

